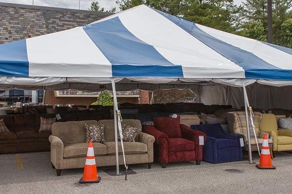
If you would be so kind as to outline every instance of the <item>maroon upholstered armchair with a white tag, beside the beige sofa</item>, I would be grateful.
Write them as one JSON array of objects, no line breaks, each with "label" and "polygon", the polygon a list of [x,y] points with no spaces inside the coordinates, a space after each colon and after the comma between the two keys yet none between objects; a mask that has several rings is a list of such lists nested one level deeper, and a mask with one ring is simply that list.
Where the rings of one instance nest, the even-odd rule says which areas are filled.
[{"label": "maroon upholstered armchair with a white tag, beside the beige sofa", "polygon": [[178,120],[179,122],[180,118],[179,116],[176,119],[171,117],[153,118],[154,126],[143,128],[143,132],[155,137],[154,160],[160,162],[163,168],[166,167],[166,163],[170,162],[196,161],[197,165],[200,165],[202,145],[199,145],[199,136],[204,136],[205,140],[205,133],[192,130],[186,125],[180,125],[177,124],[177,121],[170,120]]}]

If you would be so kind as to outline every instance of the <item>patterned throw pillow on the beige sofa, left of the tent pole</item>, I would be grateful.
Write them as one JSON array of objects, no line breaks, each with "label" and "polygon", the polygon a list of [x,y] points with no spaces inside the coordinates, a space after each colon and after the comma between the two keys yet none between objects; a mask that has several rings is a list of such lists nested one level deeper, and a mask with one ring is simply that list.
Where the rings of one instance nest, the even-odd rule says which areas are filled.
[{"label": "patterned throw pillow on the beige sofa, left of the tent pole", "polygon": [[90,141],[96,142],[96,143],[106,143],[104,124],[91,125],[91,124],[85,123],[85,129],[86,129],[86,143],[89,143]]}]

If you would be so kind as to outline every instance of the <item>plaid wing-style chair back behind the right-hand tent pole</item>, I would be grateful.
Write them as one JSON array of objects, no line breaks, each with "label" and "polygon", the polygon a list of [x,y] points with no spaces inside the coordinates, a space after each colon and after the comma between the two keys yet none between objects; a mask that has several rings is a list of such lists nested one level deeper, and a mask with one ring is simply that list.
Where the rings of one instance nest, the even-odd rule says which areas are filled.
[{"label": "plaid wing-style chair back behind the right-hand tent pole", "polygon": [[[242,135],[244,139],[245,145],[247,144],[247,126],[246,126],[246,117],[245,112],[230,112],[227,113],[227,120],[229,125],[229,130],[233,134]],[[255,132],[259,134],[259,124],[262,119],[262,114],[258,112],[254,112],[253,121],[255,125]],[[255,138],[253,126],[251,123],[251,119],[248,116],[249,121],[249,130],[250,130],[250,137]]]}]

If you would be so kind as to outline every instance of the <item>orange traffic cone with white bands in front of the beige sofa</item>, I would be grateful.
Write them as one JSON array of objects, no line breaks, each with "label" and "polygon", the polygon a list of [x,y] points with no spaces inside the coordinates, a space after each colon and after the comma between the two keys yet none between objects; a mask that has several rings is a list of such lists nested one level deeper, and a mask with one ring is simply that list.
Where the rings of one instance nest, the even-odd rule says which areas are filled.
[{"label": "orange traffic cone with white bands in front of the beige sofa", "polygon": [[93,144],[90,141],[87,150],[83,177],[79,180],[79,183],[98,183],[100,179],[101,179],[100,177],[97,177]]}]

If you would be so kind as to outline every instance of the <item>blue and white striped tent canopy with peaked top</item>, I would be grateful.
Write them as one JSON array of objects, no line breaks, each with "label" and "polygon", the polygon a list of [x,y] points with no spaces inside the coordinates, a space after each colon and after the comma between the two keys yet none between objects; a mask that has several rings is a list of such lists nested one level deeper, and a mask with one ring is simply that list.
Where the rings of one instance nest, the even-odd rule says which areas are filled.
[{"label": "blue and white striped tent canopy with peaked top", "polygon": [[145,5],[84,27],[0,45],[2,89],[9,84],[105,83],[109,78],[287,85],[292,81],[292,49]]}]

